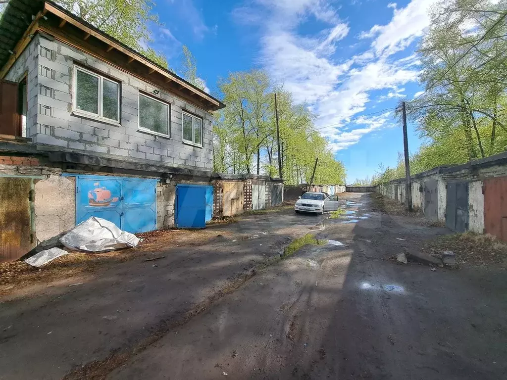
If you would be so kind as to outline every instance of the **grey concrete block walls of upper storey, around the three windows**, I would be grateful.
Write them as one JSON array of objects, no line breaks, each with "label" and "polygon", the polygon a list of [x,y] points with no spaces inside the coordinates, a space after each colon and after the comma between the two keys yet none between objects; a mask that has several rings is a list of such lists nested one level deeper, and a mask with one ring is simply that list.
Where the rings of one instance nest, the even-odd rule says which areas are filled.
[{"label": "grey concrete block walls of upper storey, around the three windows", "polygon": [[[116,67],[58,41],[36,36],[8,77],[15,78],[29,62],[30,137],[33,143],[105,153],[130,160],[146,159],[168,166],[212,169],[211,113],[161,91]],[[120,124],[73,114],[74,64],[120,82]],[[24,66],[25,65],[25,66]],[[37,66],[34,71],[32,66]],[[38,73],[38,74],[37,74]],[[138,130],[138,94],[153,94],[171,105],[171,138]],[[203,146],[183,142],[182,110],[203,119]]]}]

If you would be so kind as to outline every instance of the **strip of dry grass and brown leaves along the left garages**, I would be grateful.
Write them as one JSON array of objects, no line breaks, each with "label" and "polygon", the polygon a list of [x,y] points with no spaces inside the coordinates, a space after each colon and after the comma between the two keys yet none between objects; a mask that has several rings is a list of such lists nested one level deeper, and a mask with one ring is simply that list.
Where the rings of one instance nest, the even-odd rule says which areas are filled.
[{"label": "strip of dry grass and brown leaves along the left garages", "polygon": [[[230,235],[221,232],[222,235]],[[216,231],[207,230],[158,230],[137,234],[142,242],[136,248],[104,253],[71,252],[42,268],[34,268],[22,261],[0,263],[0,295],[11,293],[29,285],[50,283],[71,277],[84,277],[114,265],[133,260],[147,252],[167,250],[173,247],[199,246],[216,238]]]}]

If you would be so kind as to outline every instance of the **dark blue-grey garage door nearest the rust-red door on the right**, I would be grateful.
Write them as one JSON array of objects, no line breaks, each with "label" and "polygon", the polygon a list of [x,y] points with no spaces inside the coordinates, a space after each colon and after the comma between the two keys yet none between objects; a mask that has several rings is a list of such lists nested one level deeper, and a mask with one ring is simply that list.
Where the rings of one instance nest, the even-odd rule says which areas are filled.
[{"label": "dark blue-grey garage door nearest the rust-red door on the right", "polygon": [[468,230],[468,183],[447,182],[445,224],[454,231]]}]

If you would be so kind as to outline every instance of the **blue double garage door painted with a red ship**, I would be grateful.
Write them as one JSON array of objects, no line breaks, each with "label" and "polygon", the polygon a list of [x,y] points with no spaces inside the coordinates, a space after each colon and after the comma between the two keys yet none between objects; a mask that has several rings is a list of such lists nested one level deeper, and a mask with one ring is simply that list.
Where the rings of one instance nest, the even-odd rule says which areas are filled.
[{"label": "blue double garage door painted with a red ship", "polygon": [[130,232],[157,229],[156,179],[76,176],[76,224],[96,216]]}]

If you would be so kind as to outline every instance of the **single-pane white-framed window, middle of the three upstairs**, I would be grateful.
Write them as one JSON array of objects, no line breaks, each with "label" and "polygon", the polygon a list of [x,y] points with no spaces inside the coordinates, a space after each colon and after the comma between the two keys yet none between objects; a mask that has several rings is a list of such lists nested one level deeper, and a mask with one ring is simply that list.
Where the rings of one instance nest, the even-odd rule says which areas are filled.
[{"label": "single-pane white-framed window, middle of the three upstairs", "polygon": [[139,92],[139,129],[171,137],[171,105]]}]

